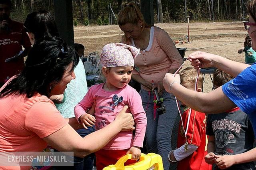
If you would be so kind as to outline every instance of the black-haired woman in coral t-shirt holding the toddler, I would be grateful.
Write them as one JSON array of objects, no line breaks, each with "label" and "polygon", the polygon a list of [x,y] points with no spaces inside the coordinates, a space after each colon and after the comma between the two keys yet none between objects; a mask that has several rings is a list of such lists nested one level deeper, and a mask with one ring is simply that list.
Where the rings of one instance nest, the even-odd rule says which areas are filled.
[{"label": "black-haired woman in coral t-shirt holding the toddler", "polygon": [[84,157],[121,130],[134,129],[132,115],[125,113],[127,107],[113,123],[84,138],[62,117],[49,97],[64,93],[75,79],[78,59],[60,38],[44,38],[34,44],[24,70],[0,89],[0,152],[40,152],[49,144]]}]

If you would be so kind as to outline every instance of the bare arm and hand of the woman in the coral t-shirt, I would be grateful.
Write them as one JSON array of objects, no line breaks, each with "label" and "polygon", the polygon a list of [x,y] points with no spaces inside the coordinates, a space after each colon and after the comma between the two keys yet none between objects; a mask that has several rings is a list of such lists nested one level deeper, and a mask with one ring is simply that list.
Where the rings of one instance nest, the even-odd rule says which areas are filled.
[{"label": "bare arm and hand of the woman in the coral t-shirt", "polygon": [[134,130],[132,114],[125,113],[124,106],[114,122],[82,138],[70,125],[43,138],[49,145],[60,151],[74,152],[74,156],[84,157],[104,147],[122,130]]}]

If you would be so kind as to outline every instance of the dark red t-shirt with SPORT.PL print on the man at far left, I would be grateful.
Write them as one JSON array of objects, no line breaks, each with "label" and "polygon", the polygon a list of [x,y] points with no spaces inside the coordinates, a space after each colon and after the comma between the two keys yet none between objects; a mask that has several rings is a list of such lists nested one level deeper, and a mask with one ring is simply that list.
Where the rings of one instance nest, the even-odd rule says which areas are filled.
[{"label": "dark red t-shirt with SPORT.PL print on the man at far left", "polygon": [[[12,77],[24,68],[24,59],[19,58],[5,62],[24,48],[31,47],[23,24],[10,20],[10,34],[0,33],[0,83],[4,83],[7,76]],[[22,45],[22,46],[21,46]]]}]

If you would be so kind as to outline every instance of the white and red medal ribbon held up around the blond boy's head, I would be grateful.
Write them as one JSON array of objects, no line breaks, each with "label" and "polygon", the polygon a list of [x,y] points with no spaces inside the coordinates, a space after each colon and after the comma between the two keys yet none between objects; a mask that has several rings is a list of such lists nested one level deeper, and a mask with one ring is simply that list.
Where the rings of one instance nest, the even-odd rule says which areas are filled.
[{"label": "white and red medal ribbon held up around the blond boy's head", "polygon": [[[187,61],[188,59],[189,59],[189,57],[188,57],[185,61]],[[183,63],[183,64],[184,64],[184,63]],[[174,73],[174,76],[180,71],[180,69],[182,68],[183,64],[177,69],[177,71]],[[198,77],[199,77],[199,68],[197,69],[197,77],[196,77],[195,91],[196,91],[196,89],[197,89]],[[177,105],[177,107],[178,107],[178,111],[179,111],[179,113],[180,113],[180,119],[181,119],[182,127],[183,127],[183,130],[184,130],[185,138],[186,138],[186,142],[185,142],[185,151],[187,151],[187,150],[188,150],[187,133],[188,133],[188,125],[189,125],[189,121],[190,121],[192,109],[191,109],[191,108],[189,109],[189,112],[188,112],[188,122],[187,122],[186,130],[185,130],[185,128],[184,128],[184,123],[183,123],[183,120],[182,120],[180,105],[179,105],[178,99],[177,99],[176,97],[175,97],[175,101],[176,101],[176,105]]]}]

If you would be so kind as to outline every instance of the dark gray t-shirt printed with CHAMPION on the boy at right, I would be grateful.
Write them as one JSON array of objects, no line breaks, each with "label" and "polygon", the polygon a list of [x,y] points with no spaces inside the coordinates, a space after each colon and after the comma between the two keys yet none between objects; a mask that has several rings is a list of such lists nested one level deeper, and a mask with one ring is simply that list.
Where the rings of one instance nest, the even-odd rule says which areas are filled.
[{"label": "dark gray t-shirt printed with CHAMPION on the boy at right", "polygon": [[[228,113],[209,114],[206,134],[214,135],[216,155],[234,155],[252,149],[254,132],[246,113],[239,108]],[[218,169],[218,167],[214,168]],[[254,170],[254,162],[236,164],[228,169]]]}]

